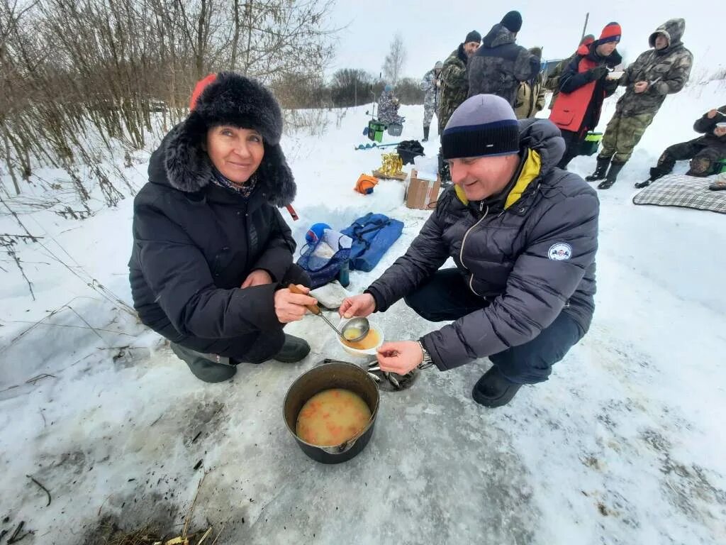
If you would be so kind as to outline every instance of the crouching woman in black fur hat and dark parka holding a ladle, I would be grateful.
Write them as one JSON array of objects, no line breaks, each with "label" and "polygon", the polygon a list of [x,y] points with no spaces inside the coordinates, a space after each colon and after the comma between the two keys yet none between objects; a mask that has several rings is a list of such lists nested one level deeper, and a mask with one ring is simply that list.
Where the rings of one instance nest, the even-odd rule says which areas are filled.
[{"label": "crouching woman in black fur hat and dark parka holding a ladle", "polygon": [[310,280],[293,265],[277,210],[295,197],[281,134],[280,106],[261,84],[208,76],[134,199],[134,308],[206,382],[229,379],[238,363],[292,363],[310,350],[282,332],[315,299],[285,287],[307,292]]}]

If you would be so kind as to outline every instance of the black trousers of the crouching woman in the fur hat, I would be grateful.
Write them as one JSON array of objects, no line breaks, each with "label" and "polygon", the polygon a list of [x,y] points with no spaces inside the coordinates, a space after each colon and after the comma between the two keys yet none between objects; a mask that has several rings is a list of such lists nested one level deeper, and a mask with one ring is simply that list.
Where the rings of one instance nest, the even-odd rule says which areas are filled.
[{"label": "black trousers of the crouching woman in the fur hat", "polygon": [[[295,264],[290,265],[290,268],[287,269],[285,277],[280,281],[280,287],[284,288],[290,283],[311,286],[308,273]],[[195,352],[220,355],[234,360],[235,363],[262,363],[280,352],[282,343],[285,342],[285,334],[282,332],[283,327],[281,325],[279,329],[272,331],[256,331],[228,339],[204,339],[202,337],[182,335],[179,331],[176,331],[171,322],[167,322],[161,328],[155,328],[155,331],[171,342],[181,344],[181,346],[195,350]]]}]

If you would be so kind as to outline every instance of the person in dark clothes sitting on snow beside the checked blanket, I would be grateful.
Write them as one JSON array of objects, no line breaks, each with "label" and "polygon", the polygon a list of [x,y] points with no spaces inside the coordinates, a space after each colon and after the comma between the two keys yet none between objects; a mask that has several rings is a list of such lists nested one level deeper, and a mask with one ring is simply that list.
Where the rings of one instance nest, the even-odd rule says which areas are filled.
[{"label": "person in dark clothes sitting on snow beside the checked blanket", "polygon": [[676,161],[687,159],[690,159],[690,168],[686,172],[688,176],[706,177],[716,174],[718,166],[726,163],[726,127],[718,126],[722,123],[726,123],[726,105],[704,113],[693,124],[693,130],[703,136],[666,148],[658,158],[658,166],[650,169],[650,178],[635,184],[635,187],[640,189],[650,185],[650,182],[669,174]]}]

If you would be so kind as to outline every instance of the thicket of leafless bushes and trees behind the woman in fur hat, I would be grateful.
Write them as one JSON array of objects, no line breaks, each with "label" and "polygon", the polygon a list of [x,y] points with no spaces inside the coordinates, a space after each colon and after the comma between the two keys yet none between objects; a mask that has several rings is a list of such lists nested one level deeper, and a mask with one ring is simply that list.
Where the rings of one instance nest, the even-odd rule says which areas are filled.
[{"label": "thicket of leafless bushes and trees behind the woman in fur hat", "polygon": [[[195,81],[237,70],[285,90],[319,81],[332,0],[0,0],[0,157],[20,194],[38,166],[65,169],[81,201],[113,206],[121,171],[102,159],[158,139]],[[100,152],[100,154],[99,154]],[[127,161],[128,162],[128,161]],[[81,179],[84,165],[91,179]],[[0,190],[9,193],[7,188]]]}]

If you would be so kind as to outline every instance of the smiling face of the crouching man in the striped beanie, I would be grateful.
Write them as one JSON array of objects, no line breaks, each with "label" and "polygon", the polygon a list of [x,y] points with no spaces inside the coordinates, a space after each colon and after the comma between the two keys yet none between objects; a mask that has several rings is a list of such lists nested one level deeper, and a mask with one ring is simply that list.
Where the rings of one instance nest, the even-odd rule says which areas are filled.
[{"label": "smiling face of the crouching man in the striped beanie", "polygon": [[502,191],[510,182],[519,163],[515,153],[509,156],[450,159],[452,182],[464,190],[470,201],[481,201]]}]

